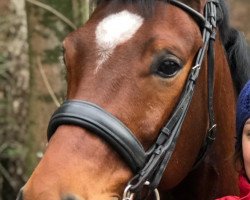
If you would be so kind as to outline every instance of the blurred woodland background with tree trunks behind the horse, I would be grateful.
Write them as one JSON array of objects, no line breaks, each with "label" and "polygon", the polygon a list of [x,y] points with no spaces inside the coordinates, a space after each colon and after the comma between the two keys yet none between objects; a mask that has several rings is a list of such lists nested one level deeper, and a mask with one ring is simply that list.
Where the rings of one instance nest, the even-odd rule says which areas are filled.
[{"label": "blurred woodland background with tree trunks behind the horse", "polygon": [[[250,1],[228,4],[250,42]],[[61,42],[93,8],[89,0],[0,0],[0,200],[16,198],[43,155],[49,118],[66,94]]]}]

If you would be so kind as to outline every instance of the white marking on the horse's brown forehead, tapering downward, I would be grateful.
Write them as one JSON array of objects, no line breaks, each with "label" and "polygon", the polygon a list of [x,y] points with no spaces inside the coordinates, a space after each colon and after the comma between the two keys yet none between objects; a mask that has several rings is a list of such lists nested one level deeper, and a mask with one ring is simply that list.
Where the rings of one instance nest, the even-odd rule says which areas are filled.
[{"label": "white marking on the horse's brown forehead, tapering downward", "polygon": [[99,58],[96,72],[111,56],[115,47],[132,38],[142,23],[141,16],[124,10],[107,16],[97,25],[95,34]]}]

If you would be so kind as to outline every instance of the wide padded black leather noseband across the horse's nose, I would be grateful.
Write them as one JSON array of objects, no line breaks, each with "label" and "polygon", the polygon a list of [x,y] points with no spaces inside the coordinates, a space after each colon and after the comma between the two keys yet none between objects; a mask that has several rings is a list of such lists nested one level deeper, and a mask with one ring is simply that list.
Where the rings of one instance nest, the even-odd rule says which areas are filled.
[{"label": "wide padded black leather noseband across the horse's nose", "polygon": [[147,156],[140,142],[121,121],[99,106],[80,100],[65,101],[51,117],[48,140],[63,124],[86,128],[105,139],[123,156],[133,172],[144,166]]}]

